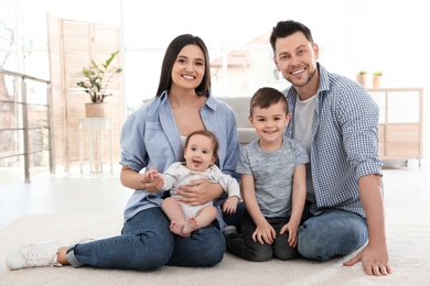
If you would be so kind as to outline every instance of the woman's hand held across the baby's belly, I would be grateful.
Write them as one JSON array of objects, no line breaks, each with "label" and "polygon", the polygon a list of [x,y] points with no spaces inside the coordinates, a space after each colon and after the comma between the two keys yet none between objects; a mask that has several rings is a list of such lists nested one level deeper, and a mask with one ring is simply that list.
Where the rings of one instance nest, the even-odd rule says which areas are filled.
[{"label": "woman's hand held across the baby's belly", "polygon": [[219,184],[206,179],[194,179],[176,189],[176,194],[182,196],[179,200],[190,206],[204,205],[218,198],[223,193]]}]

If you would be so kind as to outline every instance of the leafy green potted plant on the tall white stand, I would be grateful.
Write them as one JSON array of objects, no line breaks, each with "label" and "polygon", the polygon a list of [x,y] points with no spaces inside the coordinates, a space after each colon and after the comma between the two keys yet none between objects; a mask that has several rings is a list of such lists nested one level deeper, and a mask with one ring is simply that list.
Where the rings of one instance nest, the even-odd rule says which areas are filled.
[{"label": "leafy green potted plant on the tall white stand", "polygon": [[[92,102],[88,105],[103,103],[106,97],[112,96],[111,92],[107,91],[107,88],[112,77],[116,74],[121,73],[122,68],[111,67],[110,65],[119,52],[120,51],[118,50],[111,53],[105,63],[101,64],[97,64],[94,59],[92,59],[92,65],[83,68],[83,75],[86,77],[86,80],[80,80],[76,82],[76,85],[84,88],[84,91],[89,95]],[[89,107],[88,105],[86,105],[86,109]],[[86,113],[87,117],[99,117],[99,114],[88,116],[88,110],[86,110]]]}]

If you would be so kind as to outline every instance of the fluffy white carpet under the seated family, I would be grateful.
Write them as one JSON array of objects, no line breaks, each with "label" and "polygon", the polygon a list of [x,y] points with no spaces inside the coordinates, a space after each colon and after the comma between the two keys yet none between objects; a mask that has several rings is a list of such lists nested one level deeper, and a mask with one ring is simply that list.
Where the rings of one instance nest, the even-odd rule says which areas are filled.
[{"label": "fluffy white carpet under the seated family", "polygon": [[[410,209],[408,209],[410,212]],[[0,285],[429,285],[430,223],[428,209],[387,211],[387,234],[391,275],[367,276],[361,263],[343,266],[348,257],[329,262],[294,260],[252,263],[229,253],[212,268],[164,266],[154,272],[40,267],[20,271],[6,268],[10,251],[28,242],[119,233],[121,213],[63,213],[24,216],[0,231]],[[411,224],[413,223],[413,224]]]}]

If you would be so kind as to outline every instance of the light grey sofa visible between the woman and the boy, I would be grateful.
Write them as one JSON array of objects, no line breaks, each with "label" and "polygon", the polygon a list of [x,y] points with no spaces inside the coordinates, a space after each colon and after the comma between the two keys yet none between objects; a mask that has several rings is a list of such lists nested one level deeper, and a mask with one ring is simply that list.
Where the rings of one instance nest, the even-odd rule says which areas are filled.
[{"label": "light grey sofa visible between the woman and the boy", "polygon": [[257,133],[251,127],[249,116],[250,97],[216,97],[226,102],[236,114],[237,132],[240,145],[244,146],[257,139]]}]

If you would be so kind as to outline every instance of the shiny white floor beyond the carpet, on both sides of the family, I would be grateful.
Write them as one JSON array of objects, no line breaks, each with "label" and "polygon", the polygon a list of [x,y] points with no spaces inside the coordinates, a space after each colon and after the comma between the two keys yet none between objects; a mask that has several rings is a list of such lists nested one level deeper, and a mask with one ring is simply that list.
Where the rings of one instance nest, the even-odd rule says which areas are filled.
[{"label": "shiny white floor beyond the carpet, on both sides of the family", "polygon": [[[4,178],[4,174],[2,175]],[[430,206],[430,168],[388,162],[384,168],[386,205],[395,208]],[[26,213],[122,211],[130,189],[114,173],[39,174],[30,184],[0,185],[0,229]]]}]

